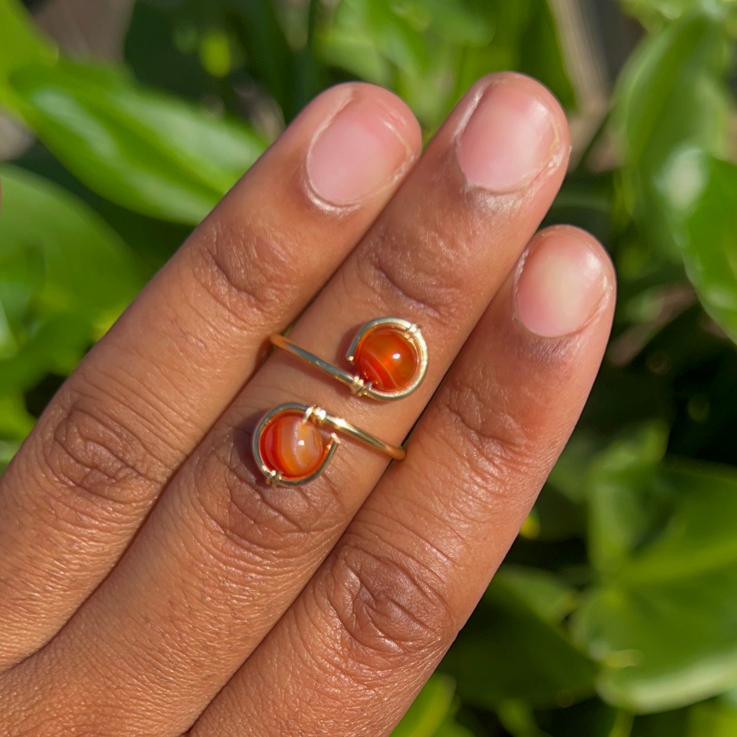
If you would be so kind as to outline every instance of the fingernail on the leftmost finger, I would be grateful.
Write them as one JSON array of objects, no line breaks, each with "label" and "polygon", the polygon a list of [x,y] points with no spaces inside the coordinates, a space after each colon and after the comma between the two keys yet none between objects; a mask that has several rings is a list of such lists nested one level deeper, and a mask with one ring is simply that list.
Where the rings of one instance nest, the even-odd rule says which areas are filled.
[{"label": "fingernail on the leftmost finger", "polygon": [[315,194],[333,205],[349,205],[393,181],[412,155],[397,117],[376,102],[349,102],[307,154],[307,178]]}]

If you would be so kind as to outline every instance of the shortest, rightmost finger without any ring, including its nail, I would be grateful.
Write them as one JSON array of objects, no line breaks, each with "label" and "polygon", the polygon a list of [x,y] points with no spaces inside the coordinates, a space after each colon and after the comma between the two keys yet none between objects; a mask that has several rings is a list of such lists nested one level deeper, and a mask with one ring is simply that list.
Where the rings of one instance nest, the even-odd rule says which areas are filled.
[{"label": "shortest, rightmost finger without any ring, including its nail", "polygon": [[[515,294],[516,291],[516,294]],[[475,607],[562,450],[604,353],[601,246],[534,239],[389,469],[190,737],[391,732]],[[516,314],[514,304],[516,302]]]}]

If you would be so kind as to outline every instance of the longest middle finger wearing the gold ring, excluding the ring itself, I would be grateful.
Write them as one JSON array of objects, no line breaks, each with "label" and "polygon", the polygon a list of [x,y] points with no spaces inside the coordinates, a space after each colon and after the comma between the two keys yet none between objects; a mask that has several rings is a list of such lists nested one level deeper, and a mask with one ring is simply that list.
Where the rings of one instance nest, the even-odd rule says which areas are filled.
[{"label": "longest middle finger wearing the gold ring, excluding the ring itself", "polygon": [[[386,467],[346,443],[317,481],[265,489],[237,428],[285,401],[318,402],[401,441],[548,209],[567,150],[565,117],[533,80],[503,74],[475,87],[290,334],[336,356],[357,325],[407,318],[422,325],[431,352],[419,391],[402,402],[360,402],[284,354],[272,357],[105,584],[22,669],[27,677],[42,669],[72,704],[119,694],[117,734],[141,703],[152,708],[139,730],[188,727],[304,587]],[[93,676],[94,663],[116,663],[118,680]]]}]

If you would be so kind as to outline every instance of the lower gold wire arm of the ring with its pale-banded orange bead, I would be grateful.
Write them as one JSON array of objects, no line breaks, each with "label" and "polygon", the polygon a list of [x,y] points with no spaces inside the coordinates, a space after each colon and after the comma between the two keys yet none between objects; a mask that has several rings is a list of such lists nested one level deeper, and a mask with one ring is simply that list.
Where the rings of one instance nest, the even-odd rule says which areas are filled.
[{"label": "lower gold wire arm of the ring with its pale-banded orange bead", "polygon": [[[322,429],[334,430],[329,435]],[[267,412],[256,425],[251,448],[266,483],[298,486],[317,478],[338,450],[340,433],[396,461],[405,450],[374,438],[359,427],[312,405],[290,403]]]}]

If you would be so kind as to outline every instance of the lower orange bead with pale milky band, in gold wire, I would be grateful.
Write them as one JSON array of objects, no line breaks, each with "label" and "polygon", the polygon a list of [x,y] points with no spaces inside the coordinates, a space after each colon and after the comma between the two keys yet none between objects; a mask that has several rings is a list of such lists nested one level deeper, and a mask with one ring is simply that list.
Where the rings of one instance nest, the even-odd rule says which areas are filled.
[{"label": "lower orange bead with pale milky band, in gold wire", "polygon": [[323,434],[298,413],[275,417],[261,436],[261,455],[284,478],[309,476],[320,467],[326,453]]}]

